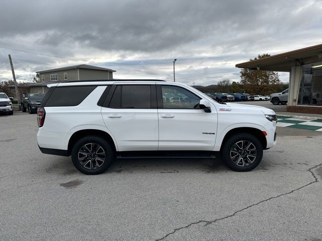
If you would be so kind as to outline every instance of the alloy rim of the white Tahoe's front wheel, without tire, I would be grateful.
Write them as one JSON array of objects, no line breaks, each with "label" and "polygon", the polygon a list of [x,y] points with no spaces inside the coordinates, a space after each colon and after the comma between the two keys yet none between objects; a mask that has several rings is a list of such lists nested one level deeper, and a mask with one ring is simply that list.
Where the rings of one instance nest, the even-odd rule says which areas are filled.
[{"label": "alloy rim of the white Tahoe's front wheel, without tire", "polygon": [[230,148],[231,161],[240,167],[252,164],[257,156],[257,149],[250,141],[238,141]]}]

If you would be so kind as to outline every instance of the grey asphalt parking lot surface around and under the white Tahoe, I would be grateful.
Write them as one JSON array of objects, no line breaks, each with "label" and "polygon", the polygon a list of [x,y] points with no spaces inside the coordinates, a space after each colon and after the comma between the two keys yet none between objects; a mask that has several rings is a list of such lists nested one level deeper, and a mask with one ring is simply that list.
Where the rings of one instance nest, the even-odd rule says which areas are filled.
[{"label": "grey asphalt parking lot surface around and under the white Tahoe", "polygon": [[35,114],[0,127],[0,240],[322,239],[322,133],[278,128],[246,173],[219,158],[126,159],[87,176],[39,151]]}]

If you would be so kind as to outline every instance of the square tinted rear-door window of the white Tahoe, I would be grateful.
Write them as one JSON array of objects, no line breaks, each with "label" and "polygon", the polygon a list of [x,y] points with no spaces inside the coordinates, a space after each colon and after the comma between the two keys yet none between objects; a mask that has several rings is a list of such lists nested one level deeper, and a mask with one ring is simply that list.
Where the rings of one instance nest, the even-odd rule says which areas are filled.
[{"label": "square tinted rear-door window of the white Tahoe", "polygon": [[151,85],[123,85],[122,108],[151,108]]}]

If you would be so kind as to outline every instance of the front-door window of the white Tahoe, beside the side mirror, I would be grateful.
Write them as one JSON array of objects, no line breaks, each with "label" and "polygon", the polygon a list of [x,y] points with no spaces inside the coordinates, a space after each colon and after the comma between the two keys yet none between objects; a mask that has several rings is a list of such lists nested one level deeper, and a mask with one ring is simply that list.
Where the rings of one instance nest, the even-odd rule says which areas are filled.
[{"label": "front-door window of the white Tahoe, beside the side mirror", "polygon": [[187,89],[162,85],[163,107],[168,109],[199,109],[200,98]]}]

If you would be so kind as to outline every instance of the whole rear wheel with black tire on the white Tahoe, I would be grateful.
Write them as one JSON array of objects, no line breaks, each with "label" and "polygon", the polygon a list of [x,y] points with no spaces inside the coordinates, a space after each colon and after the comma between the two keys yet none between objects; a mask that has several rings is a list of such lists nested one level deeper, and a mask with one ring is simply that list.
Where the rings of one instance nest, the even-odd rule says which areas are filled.
[{"label": "whole rear wheel with black tire on the white Tahoe", "polygon": [[71,151],[71,159],[75,168],[88,175],[105,172],[111,165],[114,155],[111,145],[98,136],[79,139]]}]

